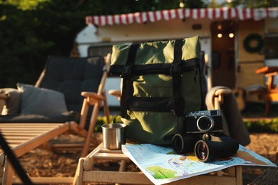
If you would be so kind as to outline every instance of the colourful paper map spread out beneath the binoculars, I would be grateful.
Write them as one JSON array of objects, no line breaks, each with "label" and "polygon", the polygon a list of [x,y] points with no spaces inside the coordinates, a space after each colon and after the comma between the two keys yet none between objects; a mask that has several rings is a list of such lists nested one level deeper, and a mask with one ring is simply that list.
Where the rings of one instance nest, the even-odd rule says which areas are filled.
[{"label": "colourful paper map spread out beneath the binoculars", "polygon": [[210,163],[198,161],[194,153],[179,155],[170,147],[154,144],[125,144],[122,151],[153,184],[166,184],[235,165],[276,166],[241,145],[235,156]]}]

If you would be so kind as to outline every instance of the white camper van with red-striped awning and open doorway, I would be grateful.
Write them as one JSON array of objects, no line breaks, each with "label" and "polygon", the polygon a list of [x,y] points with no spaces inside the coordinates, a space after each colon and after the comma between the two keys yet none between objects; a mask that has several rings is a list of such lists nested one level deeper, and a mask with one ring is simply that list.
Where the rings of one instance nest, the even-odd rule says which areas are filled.
[{"label": "white camper van with red-striped awning and open doorway", "polygon": [[[201,50],[207,58],[210,89],[224,85],[235,92],[249,85],[264,85],[255,70],[278,65],[278,8],[269,9],[173,9],[110,16],[87,16],[88,26],[76,36],[80,56],[105,55],[115,44],[173,40],[200,36]],[[246,38],[256,35],[249,48]],[[273,52],[276,51],[276,52]],[[120,78],[110,77],[106,90],[120,89]],[[247,100],[256,97],[247,95]],[[252,99],[253,98],[253,99]],[[108,95],[110,106],[118,99]]]}]

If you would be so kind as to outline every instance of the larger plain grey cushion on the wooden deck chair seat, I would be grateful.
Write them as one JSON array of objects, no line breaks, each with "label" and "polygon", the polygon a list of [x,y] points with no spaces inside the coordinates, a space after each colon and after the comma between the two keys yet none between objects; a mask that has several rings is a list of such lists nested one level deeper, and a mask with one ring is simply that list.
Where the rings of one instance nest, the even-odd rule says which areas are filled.
[{"label": "larger plain grey cushion on the wooden deck chair seat", "polygon": [[58,115],[67,112],[63,93],[33,85],[17,84],[21,92],[21,114]]}]

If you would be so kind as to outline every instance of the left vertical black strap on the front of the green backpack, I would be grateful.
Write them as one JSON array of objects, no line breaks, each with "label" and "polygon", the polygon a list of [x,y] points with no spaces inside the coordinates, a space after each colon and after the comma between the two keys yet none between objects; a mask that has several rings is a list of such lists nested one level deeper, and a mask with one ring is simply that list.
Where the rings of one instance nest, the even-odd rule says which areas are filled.
[{"label": "left vertical black strap on the front of the green backpack", "polygon": [[123,67],[121,78],[123,78],[123,88],[120,95],[120,114],[128,119],[128,99],[133,96],[133,80],[131,79],[133,64],[139,44],[132,44],[128,52],[128,60]]}]

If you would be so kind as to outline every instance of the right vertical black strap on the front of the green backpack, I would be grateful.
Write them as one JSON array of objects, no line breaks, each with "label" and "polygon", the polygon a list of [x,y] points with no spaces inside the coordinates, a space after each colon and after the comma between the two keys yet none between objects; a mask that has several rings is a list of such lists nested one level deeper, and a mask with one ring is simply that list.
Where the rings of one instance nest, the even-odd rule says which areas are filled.
[{"label": "right vertical black strap on the front of the green backpack", "polygon": [[170,69],[170,75],[173,77],[174,111],[177,117],[182,117],[185,109],[185,100],[182,97],[181,60],[182,40],[176,40],[174,46],[174,60],[172,68]]}]

